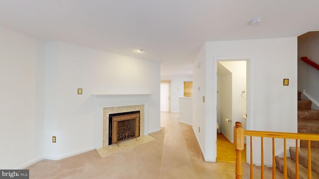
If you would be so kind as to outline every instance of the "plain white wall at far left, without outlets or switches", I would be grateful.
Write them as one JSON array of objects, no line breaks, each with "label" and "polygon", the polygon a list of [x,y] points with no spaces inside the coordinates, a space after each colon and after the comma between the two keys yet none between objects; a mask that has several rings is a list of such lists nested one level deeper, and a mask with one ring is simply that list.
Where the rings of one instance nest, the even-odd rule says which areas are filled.
[{"label": "plain white wall at far left, without outlets or switches", "polygon": [[0,169],[42,159],[44,42],[0,27]]}]

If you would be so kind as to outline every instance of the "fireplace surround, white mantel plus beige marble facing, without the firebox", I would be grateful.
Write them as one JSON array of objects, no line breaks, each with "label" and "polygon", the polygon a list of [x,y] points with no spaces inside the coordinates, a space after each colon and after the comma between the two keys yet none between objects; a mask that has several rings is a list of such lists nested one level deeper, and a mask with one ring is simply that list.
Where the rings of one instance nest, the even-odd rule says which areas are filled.
[{"label": "fireplace surround, white mantel plus beige marble facing, without the firebox", "polygon": [[[149,98],[152,94],[95,94],[95,146],[108,147],[109,116],[111,113],[140,110],[140,136],[148,135]],[[107,119],[106,119],[107,118]],[[106,122],[107,121],[107,122]],[[104,135],[104,133],[106,135]],[[106,141],[106,142],[105,142]]]}]

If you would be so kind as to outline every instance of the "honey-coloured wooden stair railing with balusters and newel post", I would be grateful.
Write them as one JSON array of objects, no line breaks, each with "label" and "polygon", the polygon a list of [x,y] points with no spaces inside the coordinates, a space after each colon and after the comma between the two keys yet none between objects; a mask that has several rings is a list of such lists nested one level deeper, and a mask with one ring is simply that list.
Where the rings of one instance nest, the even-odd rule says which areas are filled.
[{"label": "honey-coloured wooden stair railing with balusters and newel post", "polygon": [[[253,143],[252,137],[261,137],[261,178],[264,179],[264,144],[263,138],[273,139],[273,179],[276,178],[276,165],[275,165],[275,138],[284,139],[284,179],[287,179],[287,152],[286,152],[286,139],[296,139],[296,179],[299,179],[299,155],[298,155],[298,140],[308,140],[308,179],[312,178],[311,169],[311,141],[319,141],[319,134],[309,133],[288,133],[288,132],[270,132],[270,131],[252,131],[244,130],[241,122],[236,122],[234,126],[234,144],[236,148],[236,179],[243,178],[243,169],[241,161],[241,153],[244,150],[244,136],[250,137],[250,179],[254,178],[253,175]],[[246,177],[247,178],[247,177]]]}]

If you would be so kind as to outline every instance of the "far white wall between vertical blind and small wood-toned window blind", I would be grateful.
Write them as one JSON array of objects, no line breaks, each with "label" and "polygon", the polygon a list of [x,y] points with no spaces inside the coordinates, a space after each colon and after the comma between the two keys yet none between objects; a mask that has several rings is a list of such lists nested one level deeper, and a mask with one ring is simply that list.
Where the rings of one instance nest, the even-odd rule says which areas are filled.
[{"label": "far white wall between vertical blind and small wood-toned window blind", "polygon": [[178,97],[184,95],[184,82],[192,81],[192,76],[160,76],[160,80],[170,80],[170,112],[179,111]]}]

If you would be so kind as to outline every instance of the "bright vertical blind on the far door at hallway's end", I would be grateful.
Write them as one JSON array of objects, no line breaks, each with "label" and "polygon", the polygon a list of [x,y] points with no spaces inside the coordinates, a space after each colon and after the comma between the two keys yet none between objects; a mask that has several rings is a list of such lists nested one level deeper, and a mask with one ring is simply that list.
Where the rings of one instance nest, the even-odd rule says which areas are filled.
[{"label": "bright vertical blind on the far door at hallway's end", "polygon": [[169,112],[170,107],[169,107],[169,87],[170,86],[170,81],[161,81],[160,82],[160,111],[161,112]]}]

